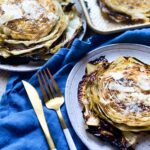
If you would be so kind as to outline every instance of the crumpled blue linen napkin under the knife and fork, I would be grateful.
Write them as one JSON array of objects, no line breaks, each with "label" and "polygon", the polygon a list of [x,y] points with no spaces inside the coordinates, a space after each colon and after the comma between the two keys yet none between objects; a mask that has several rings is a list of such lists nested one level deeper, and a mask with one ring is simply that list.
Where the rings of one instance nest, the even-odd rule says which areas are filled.
[{"label": "crumpled blue linen napkin under the knife and fork", "polygon": [[[150,46],[150,29],[127,31],[115,35],[95,35],[86,42],[76,39],[71,48],[60,49],[43,67],[49,68],[63,94],[67,77],[77,61],[96,47],[113,43],[138,43]],[[6,92],[0,101],[0,149],[47,150],[48,146],[21,80],[30,82],[39,90],[36,72],[12,73]],[[40,96],[42,94],[40,93]],[[56,113],[44,107],[46,120],[58,150],[67,150],[64,134]],[[86,147],[74,132],[65,105],[62,113],[78,150]]]}]

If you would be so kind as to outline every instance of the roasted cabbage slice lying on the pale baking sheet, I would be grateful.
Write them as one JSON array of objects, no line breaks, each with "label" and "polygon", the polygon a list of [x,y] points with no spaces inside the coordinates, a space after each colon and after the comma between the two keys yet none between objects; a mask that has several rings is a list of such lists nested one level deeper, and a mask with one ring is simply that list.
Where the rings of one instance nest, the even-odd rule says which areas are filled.
[{"label": "roasted cabbage slice lying on the pale baking sheet", "polygon": [[150,22],[149,0],[99,0],[101,10],[116,22]]}]

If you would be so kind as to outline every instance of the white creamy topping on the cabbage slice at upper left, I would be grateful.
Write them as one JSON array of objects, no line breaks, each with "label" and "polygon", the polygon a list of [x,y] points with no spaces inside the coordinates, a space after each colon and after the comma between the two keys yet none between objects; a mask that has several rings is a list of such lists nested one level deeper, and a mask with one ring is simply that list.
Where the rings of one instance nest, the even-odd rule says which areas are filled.
[{"label": "white creamy topping on the cabbage slice at upper left", "polygon": [[29,20],[38,20],[41,16],[49,20],[57,20],[58,16],[53,13],[48,13],[37,0],[21,0],[18,4],[5,1],[1,5],[3,15],[0,17],[0,24],[7,23],[15,19],[26,18]]}]

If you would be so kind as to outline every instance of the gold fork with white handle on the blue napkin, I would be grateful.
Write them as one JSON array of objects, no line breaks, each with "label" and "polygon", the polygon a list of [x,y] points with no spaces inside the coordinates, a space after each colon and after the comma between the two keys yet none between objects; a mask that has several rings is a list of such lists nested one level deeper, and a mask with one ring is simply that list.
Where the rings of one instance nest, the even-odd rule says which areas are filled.
[{"label": "gold fork with white handle on the blue napkin", "polygon": [[[52,84],[50,80],[52,81]],[[76,150],[76,146],[60,110],[61,106],[64,104],[64,97],[49,69],[46,69],[43,72],[41,71],[38,74],[38,81],[40,84],[40,89],[42,91],[46,107],[48,109],[53,109],[57,112],[69,148],[71,150]]]}]

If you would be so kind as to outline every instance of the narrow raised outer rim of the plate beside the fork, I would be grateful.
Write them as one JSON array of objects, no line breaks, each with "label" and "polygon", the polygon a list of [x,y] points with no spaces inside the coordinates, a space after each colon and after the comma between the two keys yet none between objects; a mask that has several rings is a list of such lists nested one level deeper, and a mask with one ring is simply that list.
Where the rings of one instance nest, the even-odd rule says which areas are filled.
[{"label": "narrow raised outer rim of the plate beside the fork", "polygon": [[[71,114],[69,113],[69,106],[68,106],[69,100],[67,100],[67,99],[69,99],[69,97],[70,97],[70,95],[67,94],[67,93],[69,93],[69,89],[70,89],[69,82],[71,81],[72,76],[74,75],[75,70],[77,70],[77,68],[79,68],[78,66],[81,64],[82,61],[88,59],[88,58],[90,57],[90,55],[94,54],[96,51],[100,51],[101,49],[110,48],[110,47],[116,47],[116,46],[119,46],[119,47],[120,47],[120,46],[131,46],[131,47],[139,46],[139,47],[141,47],[141,48],[143,47],[143,48],[146,48],[147,50],[148,50],[148,49],[150,50],[150,46],[143,45],[143,44],[135,44],[135,43],[116,43],[116,44],[109,44],[109,45],[97,47],[97,48],[95,48],[94,50],[92,50],[92,51],[90,51],[89,53],[87,53],[86,56],[84,56],[83,58],[81,58],[81,59],[75,64],[75,66],[72,68],[72,70],[71,70],[71,72],[69,73],[69,76],[68,76],[68,78],[67,78],[67,82],[66,82],[66,86],[65,86],[65,106],[66,106],[67,114],[68,114],[68,117],[69,117],[69,120],[70,120],[70,123],[71,123],[71,125],[72,125],[73,130],[75,131],[75,133],[77,134],[77,136],[80,138],[80,140],[86,145],[87,148],[89,148],[89,147],[88,147],[88,145],[87,145],[86,140],[81,139],[81,137],[80,137],[80,135],[79,135],[77,129],[74,127],[74,124],[73,124],[73,122],[72,122]],[[150,53],[150,51],[148,52],[147,50],[146,50],[146,52],[147,52],[147,53]],[[103,51],[105,51],[105,50],[103,50]],[[103,51],[102,51],[102,52],[103,52]],[[140,51],[141,51],[141,50],[140,50]],[[144,52],[144,51],[143,51],[143,52]],[[105,144],[105,143],[104,143],[104,144]]]}]

